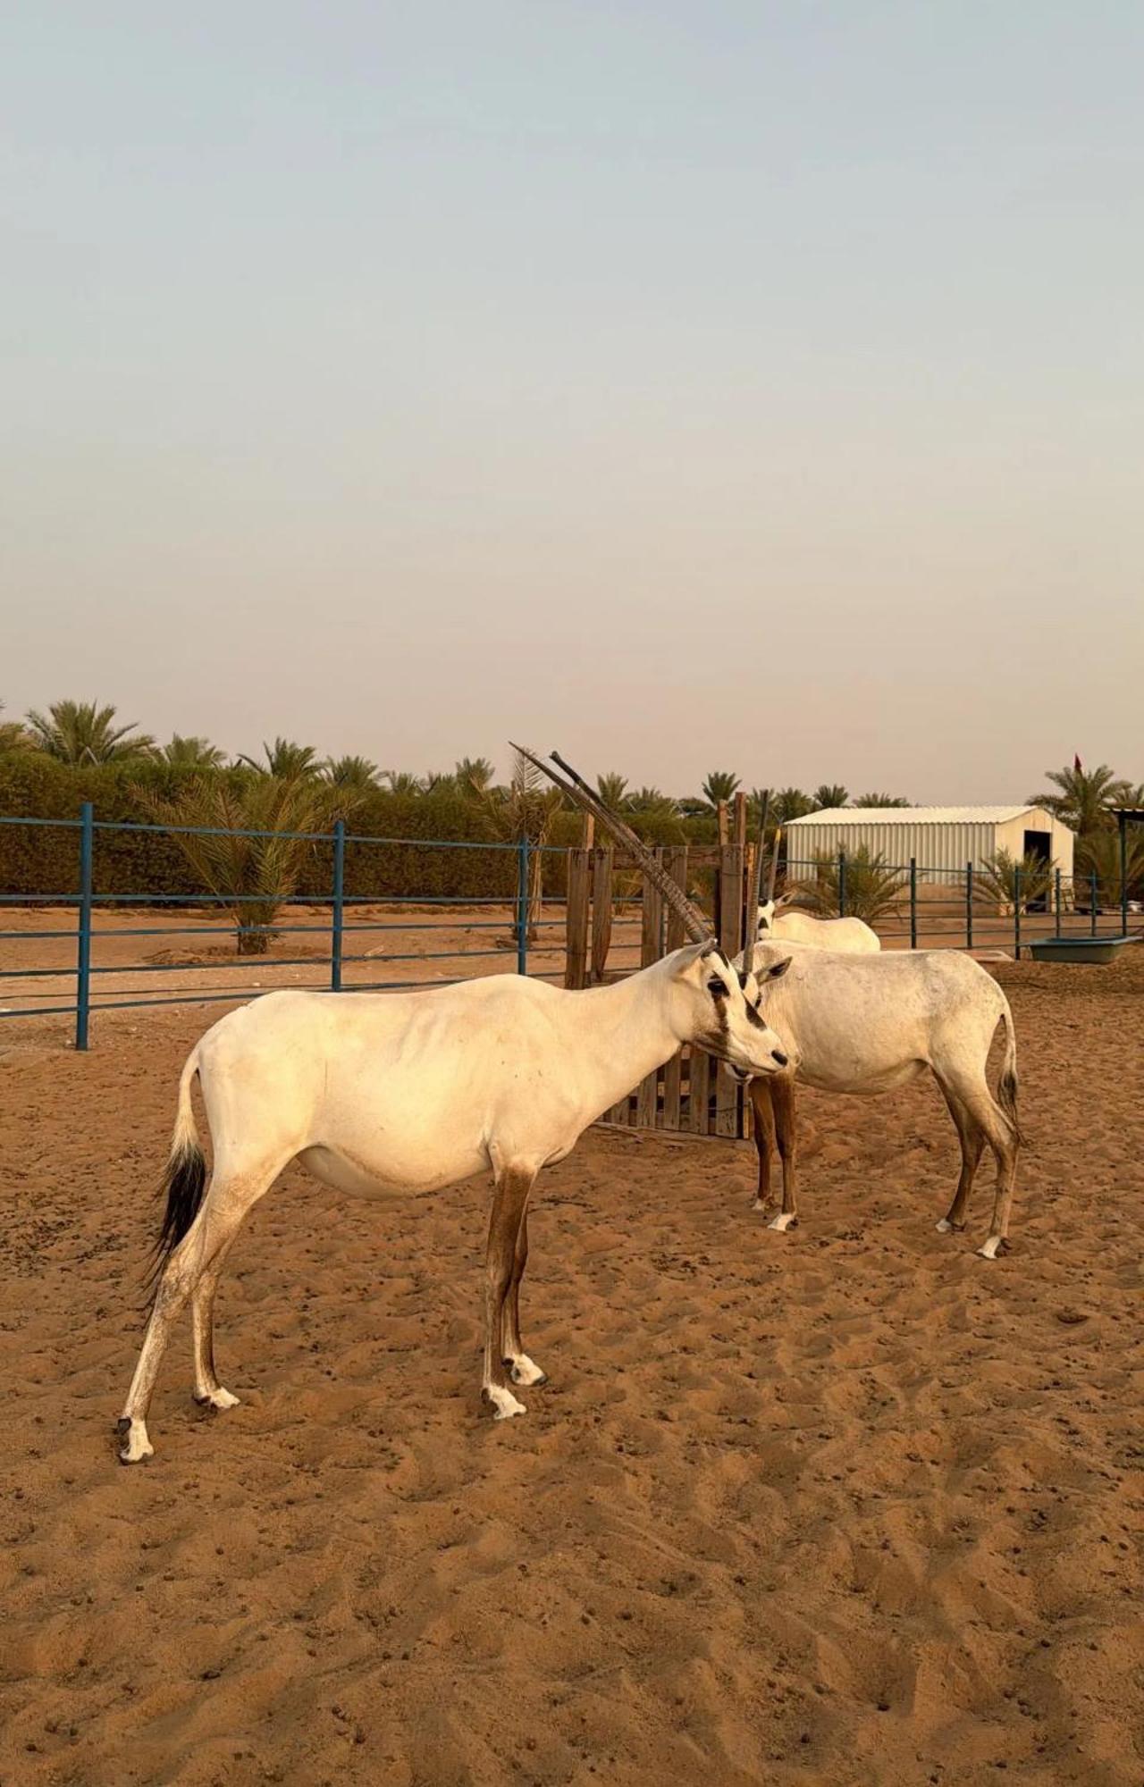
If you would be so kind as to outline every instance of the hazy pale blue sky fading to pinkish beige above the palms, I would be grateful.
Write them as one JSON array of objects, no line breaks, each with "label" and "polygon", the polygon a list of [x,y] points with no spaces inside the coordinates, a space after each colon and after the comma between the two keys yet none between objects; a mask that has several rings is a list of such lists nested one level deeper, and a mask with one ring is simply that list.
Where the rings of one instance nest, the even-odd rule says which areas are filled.
[{"label": "hazy pale blue sky fading to pinkish beige above the palms", "polygon": [[1144,777],[1142,66],[1139,0],[9,9],[0,697]]}]

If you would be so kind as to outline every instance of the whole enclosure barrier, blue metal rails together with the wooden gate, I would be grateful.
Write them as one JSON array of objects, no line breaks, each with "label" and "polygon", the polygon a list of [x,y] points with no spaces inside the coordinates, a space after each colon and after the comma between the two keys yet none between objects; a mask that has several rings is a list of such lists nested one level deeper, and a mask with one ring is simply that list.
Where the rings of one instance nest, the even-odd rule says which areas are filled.
[{"label": "whole enclosure barrier, blue metal rails together with the wooden gate", "polygon": [[[27,845],[27,836],[38,827],[52,829],[54,847],[39,856],[25,847],[21,861],[57,865],[61,885],[55,890],[29,892],[27,868],[4,874],[5,845],[11,849],[9,863],[14,863],[20,849],[13,847],[13,840],[23,836]],[[238,851],[232,881],[238,892],[139,888],[138,861],[150,858],[147,851],[132,856],[120,847],[125,836],[139,835],[159,835],[168,843],[214,840],[227,851]],[[66,849],[61,840],[70,840]],[[299,845],[306,854],[307,892],[279,899],[273,883],[265,877],[265,865],[259,867],[256,845]],[[248,860],[241,856],[247,847]],[[740,835],[735,843],[715,847],[674,845],[656,851],[656,856],[679,886],[708,904],[722,947],[738,951],[751,926],[753,847],[745,838]],[[136,865],[130,874],[123,867],[129,861]],[[1115,885],[1096,874],[1062,876],[1051,868],[1028,877],[1021,867],[1008,879],[999,879],[996,867],[988,870],[972,863],[951,876],[922,868],[915,860],[901,867],[879,863],[872,885],[871,865],[840,852],[829,861],[786,861],[781,886],[795,892],[820,917],[867,919],[890,949],[955,947],[1019,956],[1022,947],[1046,936],[1126,935],[1139,908],[1130,899],[1123,861],[1121,856]],[[116,877],[122,877],[118,885]],[[193,879],[188,867],[186,881]],[[277,986],[383,992],[447,985],[467,977],[474,963],[479,963],[475,972],[490,972],[499,961],[518,974],[588,986],[654,961],[685,940],[661,897],[644,885],[627,858],[611,849],[540,847],[529,840],[374,838],[347,831],[343,822],[329,833],[150,826],[97,820],[91,804],[84,804],[77,818],[0,817],[0,886],[9,888],[14,881],[23,885],[0,892],[0,981],[5,983],[0,992],[13,985],[18,997],[14,1004],[0,1001],[0,1017],[68,1015],[77,1049],[88,1047],[93,1013],[259,997],[273,990],[266,985],[268,972],[297,970],[291,981],[279,977]],[[322,885],[324,892],[318,890]],[[363,885],[374,892],[356,892]],[[377,892],[379,886],[415,892]],[[425,892],[420,892],[422,886]],[[18,927],[7,927],[4,919],[16,908],[29,917]],[[41,927],[30,922],[45,910],[59,913],[61,924]],[[116,915],[134,917],[136,910],[143,922],[111,922]],[[163,913],[173,915],[175,922],[170,917],[159,922]],[[213,922],[204,922],[202,913],[213,915]],[[229,915],[225,926],[218,922],[223,913]],[[68,917],[66,926],[63,915]],[[452,935],[458,929],[465,933],[461,940]],[[433,936],[434,931],[440,935]],[[390,947],[395,933],[416,933],[416,947],[409,942]],[[204,938],[222,935],[236,945],[229,958],[207,945],[214,960],[188,960],[195,944],[202,951]],[[383,947],[363,949],[368,935],[381,936]],[[300,942],[286,956],[268,954],[270,940],[277,936]],[[307,936],[320,938],[320,947],[307,947],[302,942]],[[145,960],[102,960],[113,940],[148,938],[166,944],[191,938],[191,944],[182,951],[154,949]],[[134,944],[130,947],[136,949]],[[434,965],[431,977],[418,977],[413,963]],[[299,977],[302,972],[306,979]],[[172,986],[164,976],[182,979]],[[218,976],[223,985],[213,985]],[[669,1063],[617,1106],[613,1120],[690,1126],[694,1133],[742,1133],[742,1094],[729,1081],[722,1085],[726,1076],[711,1074],[708,1081],[708,1067],[699,1053],[694,1067],[686,1058],[683,1065],[679,1060]]]}]

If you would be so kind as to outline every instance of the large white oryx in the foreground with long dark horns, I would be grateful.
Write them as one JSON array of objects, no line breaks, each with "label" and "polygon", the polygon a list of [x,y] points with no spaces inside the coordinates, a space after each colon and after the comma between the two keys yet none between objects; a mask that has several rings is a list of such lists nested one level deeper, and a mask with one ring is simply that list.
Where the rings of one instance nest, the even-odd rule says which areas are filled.
[{"label": "large white oryx in the foreground with long dark horns", "polygon": [[[731,969],[683,888],[574,770],[565,781],[538,767],[626,843],[692,944],[583,992],[511,974],[411,994],[275,992],[214,1024],[179,1083],[156,1297],[120,1419],[125,1464],[152,1453],[147,1410],[188,1297],[195,1399],[238,1401],[214,1372],[218,1274],[243,1219],[291,1160],[338,1192],[379,1201],[431,1196],[492,1170],[483,1390],[504,1419],[526,1412],[509,1374],[515,1385],[545,1381],[524,1351],[518,1306],[540,1169],[570,1154],[588,1124],[683,1042],[744,1076],[786,1067],[758,1017],[758,986]],[[195,1076],[214,1142],[209,1183],[191,1113]]]}]

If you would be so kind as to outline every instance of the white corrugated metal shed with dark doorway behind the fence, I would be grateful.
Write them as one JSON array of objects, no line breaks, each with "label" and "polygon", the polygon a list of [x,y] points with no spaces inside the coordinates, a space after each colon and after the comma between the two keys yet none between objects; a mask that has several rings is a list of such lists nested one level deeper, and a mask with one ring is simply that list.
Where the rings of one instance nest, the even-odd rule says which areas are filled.
[{"label": "white corrugated metal shed with dark doorway behind the fence", "polygon": [[794,818],[786,827],[792,868],[815,856],[847,856],[865,843],[871,856],[881,854],[896,868],[908,868],[910,858],[930,870],[930,883],[942,872],[956,881],[965,865],[974,868],[994,851],[1046,856],[1072,874],[1072,833],[1040,806],[833,806],[822,813]]}]

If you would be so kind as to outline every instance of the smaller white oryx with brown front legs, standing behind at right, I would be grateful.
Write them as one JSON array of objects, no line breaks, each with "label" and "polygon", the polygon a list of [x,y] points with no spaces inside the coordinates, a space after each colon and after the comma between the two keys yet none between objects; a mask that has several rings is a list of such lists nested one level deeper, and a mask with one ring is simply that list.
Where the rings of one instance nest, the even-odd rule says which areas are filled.
[{"label": "smaller white oryx with brown front legs, standing behind at right", "polygon": [[[774,977],[788,963],[783,977]],[[822,1092],[888,1092],[930,1070],[937,1079],[962,1144],[962,1176],[938,1229],[965,1226],[965,1201],[985,1144],[997,1162],[997,1194],[987,1258],[1005,1251],[1017,1165],[1017,1040],[1008,999],[971,956],[958,951],[842,954],[799,944],[758,944],[754,974],[763,990],[761,1011],[779,1031],[792,1058],[786,1074],[753,1085],[760,1156],[754,1208],[767,1208],[770,1144],[783,1158],[783,1208],[770,1228],[797,1222],[797,1128],[794,1083]],[[997,1024],[1006,1047],[999,1099],[988,1090],[985,1065]]]}]

